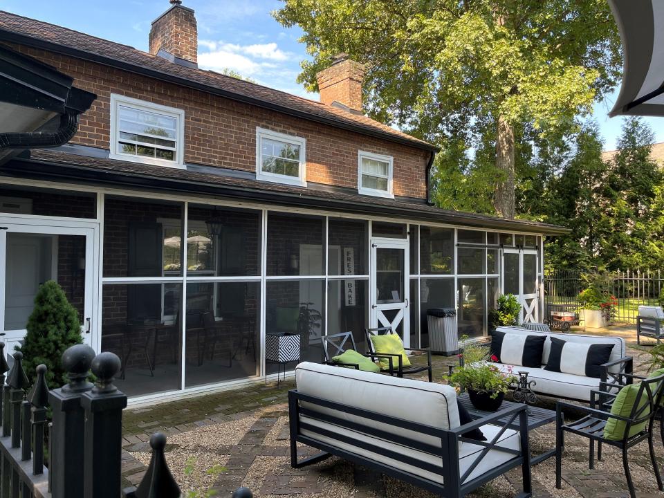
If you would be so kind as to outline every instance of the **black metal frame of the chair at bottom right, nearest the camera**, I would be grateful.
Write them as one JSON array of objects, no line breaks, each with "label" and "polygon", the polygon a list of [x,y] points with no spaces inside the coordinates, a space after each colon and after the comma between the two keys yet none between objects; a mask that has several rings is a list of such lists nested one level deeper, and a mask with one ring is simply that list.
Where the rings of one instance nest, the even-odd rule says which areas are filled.
[{"label": "black metal frame of the chair at bottom right, nearest the camera", "polygon": [[[664,375],[641,380],[638,387],[638,392],[636,394],[636,403],[634,403],[634,407],[632,408],[628,417],[611,415],[605,410],[595,408],[596,403],[599,403],[600,399],[605,399],[607,397],[607,393],[604,391],[591,391],[591,407],[582,407],[579,405],[566,403],[564,401],[558,401],[555,407],[555,487],[558,489],[561,487],[564,433],[571,432],[572,434],[576,434],[578,436],[587,437],[590,440],[589,467],[591,469],[594,468],[595,463],[594,457],[596,441],[598,443],[598,457],[601,457],[601,445],[603,443],[615,446],[622,451],[623,468],[625,469],[627,487],[629,488],[629,495],[631,498],[636,497],[636,491],[634,490],[634,483],[631,480],[631,472],[629,471],[629,459],[627,456],[627,450],[647,439],[648,449],[650,451],[650,461],[652,463],[655,478],[657,479],[657,486],[660,491],[664,491],[664,486],[662,485],[662,479],[659,474],[659,468],[655,457],[655,451],[652,445],[653,422],[656,416],[658,404],[662,397],[663,389]],[[612,394],[610,396],[612,396]],[[647,397],[645,398],[647,399],[647,403],[643,403],[642,405],[641,400],[644,399],[643,396]],[[569,408],[577,412],[583,412],[584,416],[578,421],[564,423],[564,408]],[[625,422],[625,432],[623,439],[614,441],[605,438],[604,428],[607,425],[609,418],[614,418],[616,421]],[[643,430],[634,434],[633,436],[629,436],[629,432],[631,432],[630,430],[633,425],[638,425],[644,422],[645,427]]]}]

